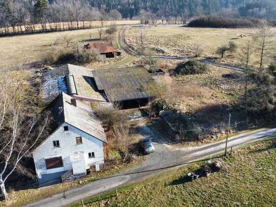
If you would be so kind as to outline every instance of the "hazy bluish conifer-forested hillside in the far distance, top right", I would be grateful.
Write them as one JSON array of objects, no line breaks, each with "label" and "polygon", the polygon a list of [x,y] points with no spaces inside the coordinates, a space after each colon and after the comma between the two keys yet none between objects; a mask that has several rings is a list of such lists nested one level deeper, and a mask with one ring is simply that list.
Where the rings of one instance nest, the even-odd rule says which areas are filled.
[{"label": "hazy bluish conifer-forested hillside in the far distance, top right", "polygon": [[274,1],[256,0],[134,0],[134,1],[103,1],[89,0],[93,7],[104,6],[108,11],[117,9],[124,18],[132,18],[139,15],[141,9],[151,11],[157,15],[169,16],[196,16],[217,13],[224,8],[240,12],[242,16],[272,18],[276,8]]}]

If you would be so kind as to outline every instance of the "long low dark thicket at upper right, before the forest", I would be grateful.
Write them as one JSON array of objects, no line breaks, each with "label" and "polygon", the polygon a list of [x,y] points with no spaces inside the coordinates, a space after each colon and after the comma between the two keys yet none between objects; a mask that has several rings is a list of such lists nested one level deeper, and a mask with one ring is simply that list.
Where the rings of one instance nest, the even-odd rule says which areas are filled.
[{"label": "long low dark thicket at upper right, before the forest", "polygon": [[238,28],[238,27],[257,27],[261,24],[260,19],[256,18],[231,18],[223,16],[205,16],[192,20],[189,26],[192,27],[216,27],[216,28]]}]

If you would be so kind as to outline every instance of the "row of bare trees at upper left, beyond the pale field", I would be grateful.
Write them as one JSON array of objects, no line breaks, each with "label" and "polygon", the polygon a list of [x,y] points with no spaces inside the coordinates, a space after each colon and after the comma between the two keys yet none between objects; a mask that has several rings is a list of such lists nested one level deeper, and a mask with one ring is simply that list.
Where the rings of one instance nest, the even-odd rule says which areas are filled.
[{"label": "row of bare trees at upper left, beyond the pale field", "polygon": [[117,10],[91,7],[86,0],[0,0],[0,34],[91,28],[91,21],[121,19]]}]

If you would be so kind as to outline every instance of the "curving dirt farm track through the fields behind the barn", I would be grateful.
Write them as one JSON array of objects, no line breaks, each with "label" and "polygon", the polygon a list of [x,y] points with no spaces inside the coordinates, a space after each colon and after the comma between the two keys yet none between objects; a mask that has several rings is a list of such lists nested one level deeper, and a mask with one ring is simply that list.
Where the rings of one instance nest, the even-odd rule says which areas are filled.
[{"label": "curving dirt farm track through the fields behind the barn", "polygon": [[[119,31],[119,45],[120,45],[120,48],[122,50],[124,50],[129,55],[133,55],[133,56],[136,56],[136,57],[148,57],[149,55],[140,55],[140,54],[138,54],[135,51],[135,49],[126,42],[126,39],[125,39],[126,29],[127,29],[127,27],[123,26]],[[193,60],[193,58],[189,58],[189,57],[185,57],[185,56],[184,57],[178,57],[178,56],[166,56],[166,55],[151,55],[151,57],[162,58],[162,59],[167,59],[167,60],[181,60],[181,61]],[[202,62],[206,65],[214,66],[214,67],[226,68],[226,69],[230,69],[230,70],[243,72],[242,68],[238,68],[238,67],[231,66],[231,65],[217,64],[217,63],[213,63],[209,60],[200,60],[200,62]]]}]

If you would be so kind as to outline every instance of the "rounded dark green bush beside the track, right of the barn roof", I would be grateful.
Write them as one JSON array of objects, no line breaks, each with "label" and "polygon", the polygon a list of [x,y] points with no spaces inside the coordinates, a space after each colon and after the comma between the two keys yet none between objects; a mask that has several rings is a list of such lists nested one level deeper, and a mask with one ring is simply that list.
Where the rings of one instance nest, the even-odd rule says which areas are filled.
[{"label": "rounded dark green bush beside the track, right of the barn roof", "polygon": [[208,68],[205,64],[199,61],[188,61],[179,63],[174,69],[176,75],[191,75],[207,72]]}]

